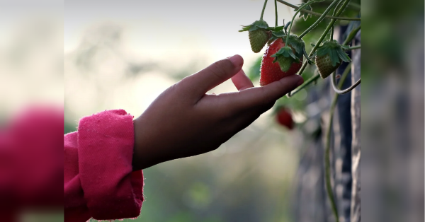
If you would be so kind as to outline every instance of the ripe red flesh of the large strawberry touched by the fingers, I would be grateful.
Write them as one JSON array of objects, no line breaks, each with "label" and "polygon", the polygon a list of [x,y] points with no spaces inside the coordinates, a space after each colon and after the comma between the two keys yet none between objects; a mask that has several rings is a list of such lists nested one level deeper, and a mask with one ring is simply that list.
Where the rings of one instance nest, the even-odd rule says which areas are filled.
[{"label": "ripe red flesh of the large strawberry touched by the fingers", "polygon": [[280,80],[280,78],[296,74],[297,71],[300,71],[302,66],[302,57],[300,62],[294,62],[288,71],[280,70],[278,62],[273,62],[275,59],[271,57],[273,54],[279,51],[282,47],[285,46],[282,38],[278,38],[271,45],[268,45],[266,52],[263,54],[263,60],[261,61],[261,75],[260,75],[260,85],[266,86],[269,83]]}]

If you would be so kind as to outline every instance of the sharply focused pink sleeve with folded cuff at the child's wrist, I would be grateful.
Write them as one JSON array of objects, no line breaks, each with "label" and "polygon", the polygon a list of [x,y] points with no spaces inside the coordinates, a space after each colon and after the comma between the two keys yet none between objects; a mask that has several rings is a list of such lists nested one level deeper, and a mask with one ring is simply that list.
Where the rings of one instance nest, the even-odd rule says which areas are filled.
[{"label": "sharply focused pink sleeve with folded cuff at the child's wrist", "polygon": [[99,112],[64,136],[65,221],[139,216],[143,174],[132,172],[132,119],[124,110]]}]

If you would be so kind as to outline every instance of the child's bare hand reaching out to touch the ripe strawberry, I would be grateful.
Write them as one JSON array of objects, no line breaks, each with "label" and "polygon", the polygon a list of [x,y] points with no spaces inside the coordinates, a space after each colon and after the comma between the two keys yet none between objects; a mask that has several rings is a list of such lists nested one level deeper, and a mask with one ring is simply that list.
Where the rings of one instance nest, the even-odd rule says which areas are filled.
[{"label": "child's bare hand reaching out to touch the ripe strawberry", "polygon": [[[303,82],[293,75],[254,87],[243,63],[239,55],[220,60],[159,95],[135,119],[133,169],[215,150]],[[238,92],[205,94],[229,78]]]}]

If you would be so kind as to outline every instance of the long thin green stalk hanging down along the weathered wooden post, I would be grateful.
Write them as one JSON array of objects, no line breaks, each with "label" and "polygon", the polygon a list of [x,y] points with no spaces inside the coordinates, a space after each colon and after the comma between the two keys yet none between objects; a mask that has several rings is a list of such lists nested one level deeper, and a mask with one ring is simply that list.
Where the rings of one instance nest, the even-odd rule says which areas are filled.
[{"label": "long thin green stalk hanging down along the weathered wooden post", "polygon": [[[341,76],[341,80],[339,81],[339,84],[338,84],[339,88],[341,88],[350,70],[351,70],[351,64],[348,64],[347,68],[344,70],[344,74],[342,74]],[[338,216],[338,209],[336,208],[334,191],[332,190],[332,185],[331,185],[331,157],[330,156],[331,156],[331,128],[332,128],[336,102],[338,101],[338,96],[339,94],[335,94],[335,97],[331,103],[331,109],[329,110],[329,125],[326,132],[327,141],[326,141],[326,146],[324,148],[324,175],[325,175],[326,189],[327,189],[329,200],[331,201],[331,207],[332,207],[332,211],[334,212],[336,222],[339,222],[339,216]]]}]

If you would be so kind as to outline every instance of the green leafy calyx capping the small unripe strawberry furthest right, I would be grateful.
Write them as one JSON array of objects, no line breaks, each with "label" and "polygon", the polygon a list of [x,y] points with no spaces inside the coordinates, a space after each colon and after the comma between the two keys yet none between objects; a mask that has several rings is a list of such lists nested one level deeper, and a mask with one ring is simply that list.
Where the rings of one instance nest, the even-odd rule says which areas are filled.
[{"label": "green leafy calyx capping the small unripe strawberry furthest right", "polygon": [[341,61],[351,62],[351,59],[350,57],[348,57],[348,54],[344,52],[344,50],[347,48],[348,46],[340,45],[339,42],[336,40],[328,40],[326,42],[323,42],[323,44],[317,48],[316,55],[318,57],[329,55],[332,66],[336,66],[336,64],[341,63]]}]

